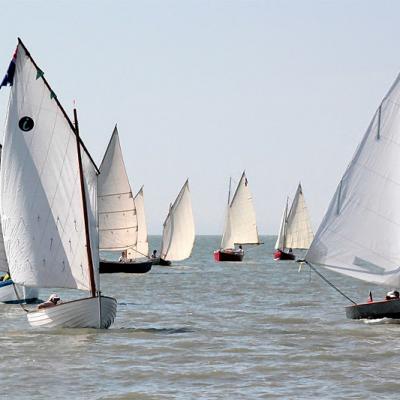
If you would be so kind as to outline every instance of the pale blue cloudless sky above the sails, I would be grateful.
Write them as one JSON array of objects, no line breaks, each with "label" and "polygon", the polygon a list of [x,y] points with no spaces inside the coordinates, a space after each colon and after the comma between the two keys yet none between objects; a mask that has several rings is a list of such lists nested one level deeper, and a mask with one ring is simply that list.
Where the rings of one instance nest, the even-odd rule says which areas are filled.
[{"label": "pale blue cloudless sky above the sails", "polygon": [[261,233],[300,180],[316,229],[400,71],[398,1],[0,4],[0,75],[20,36],[98,163],[118,123],[150,233],[189,177],[197,233],[219,234],[243,169]]}]

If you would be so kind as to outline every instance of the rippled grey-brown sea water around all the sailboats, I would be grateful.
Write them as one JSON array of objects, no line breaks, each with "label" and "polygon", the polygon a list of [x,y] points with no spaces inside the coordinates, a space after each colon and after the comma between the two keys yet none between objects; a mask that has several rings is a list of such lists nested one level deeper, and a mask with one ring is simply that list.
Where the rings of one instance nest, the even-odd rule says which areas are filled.
[{"label": "rippled grey-brown sea water around all the sailboats", "polygon": [[[109,330],[35,330],[0,305],[0,398],[397,399],[400,325],[347,320],[347,301],[307,267],[272,260],[274,239],[217,264],[220,238],[200,236],[173,267],[102,275],[118,299]],[[366,299],[369,285],[322,272]]]}]

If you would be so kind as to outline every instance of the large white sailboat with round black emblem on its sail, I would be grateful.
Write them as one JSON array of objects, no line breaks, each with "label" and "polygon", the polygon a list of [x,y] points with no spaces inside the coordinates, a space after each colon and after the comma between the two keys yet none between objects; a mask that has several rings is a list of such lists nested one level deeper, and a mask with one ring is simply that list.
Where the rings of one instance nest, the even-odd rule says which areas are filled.
[{"label": "large white sailboat with round black emblem on its sail", "polygon": [[[89,296],[27,313],[35,327],[108,328],[117,302],[98,276],[98,170],[57,96],[18,39],[3,144],[1,223],[13,281]],[[17,188],[17,190],[16,190]]]}]

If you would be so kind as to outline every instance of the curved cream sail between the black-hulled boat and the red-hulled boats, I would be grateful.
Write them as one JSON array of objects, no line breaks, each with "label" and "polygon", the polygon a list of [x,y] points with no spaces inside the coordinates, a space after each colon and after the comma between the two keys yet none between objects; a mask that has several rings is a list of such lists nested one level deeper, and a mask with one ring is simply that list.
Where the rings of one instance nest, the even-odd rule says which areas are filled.
[{"label": "curved cream sail between the black-hulled boat and the red-hulled boats", "polygon": [[195,239],[189,181],[186,181],[171,205],[164,222],[161,258],[180,261],[190,257]]}]

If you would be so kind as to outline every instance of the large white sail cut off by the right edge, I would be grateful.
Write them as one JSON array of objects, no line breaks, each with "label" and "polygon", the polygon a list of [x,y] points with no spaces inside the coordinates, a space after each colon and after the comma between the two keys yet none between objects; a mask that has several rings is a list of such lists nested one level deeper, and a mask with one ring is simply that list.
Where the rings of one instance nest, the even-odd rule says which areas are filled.
[{"label": "large white sail cut off by the right edge", "polygon": [[400,286],[400,78],[383,99],[306,255],[354,278]]}]

